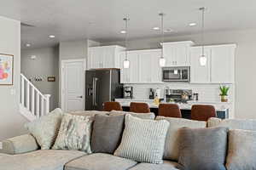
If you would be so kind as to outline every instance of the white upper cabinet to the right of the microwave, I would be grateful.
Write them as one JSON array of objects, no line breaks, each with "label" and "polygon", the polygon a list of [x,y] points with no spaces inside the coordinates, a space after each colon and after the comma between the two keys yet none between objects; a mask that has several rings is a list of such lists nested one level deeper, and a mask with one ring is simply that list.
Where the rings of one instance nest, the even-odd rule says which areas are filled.
[{"label": "white upper cabinet to the right of the microwave", "polygon": [[190,50],[191,82],[234,83],[235,44],[206,46],[207,65],[200,65],[201,47]]}]

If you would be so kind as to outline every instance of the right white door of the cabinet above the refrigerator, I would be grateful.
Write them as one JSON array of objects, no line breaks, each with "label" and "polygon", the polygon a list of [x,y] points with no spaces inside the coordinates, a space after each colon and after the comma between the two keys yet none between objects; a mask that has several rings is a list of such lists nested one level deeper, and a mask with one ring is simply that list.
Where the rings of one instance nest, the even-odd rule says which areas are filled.
[{"label": "right white door of the cabinet above the refrigerator", "polygon": [[102,67],[115,68],[115,47],[102,47]]}]

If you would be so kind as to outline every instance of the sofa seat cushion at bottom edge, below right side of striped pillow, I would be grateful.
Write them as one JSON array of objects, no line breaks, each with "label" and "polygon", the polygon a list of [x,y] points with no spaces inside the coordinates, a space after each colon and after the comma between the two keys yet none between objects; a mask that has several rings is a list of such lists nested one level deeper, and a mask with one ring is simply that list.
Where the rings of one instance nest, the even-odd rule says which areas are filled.
[{"label": "sofa seat cushion at bottom edge, below right side of striped pillow", "polygon": [[162,164],[139,163],[130,170],[178,170],[177,166],[174,161],[164,161]]}]

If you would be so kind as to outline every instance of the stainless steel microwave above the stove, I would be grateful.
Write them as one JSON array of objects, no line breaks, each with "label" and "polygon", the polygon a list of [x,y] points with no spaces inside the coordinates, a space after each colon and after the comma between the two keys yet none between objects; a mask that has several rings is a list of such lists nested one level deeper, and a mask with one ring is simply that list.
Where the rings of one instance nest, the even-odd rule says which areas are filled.
[{"label": "stainless steel microwave above the stove", "polygon": [[190,67],[163,67],[162,68],[163,82],[190,82]]}]

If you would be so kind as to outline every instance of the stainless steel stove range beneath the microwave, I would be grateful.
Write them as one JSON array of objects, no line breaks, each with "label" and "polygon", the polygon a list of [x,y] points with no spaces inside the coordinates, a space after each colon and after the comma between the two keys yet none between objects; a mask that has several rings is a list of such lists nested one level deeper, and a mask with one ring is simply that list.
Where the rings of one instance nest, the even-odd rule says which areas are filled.
[{"label": "stainless steel stove range beneath the microwave", "polygon": [[166,102],[187,103],[192,100],[192,90],[188,89],[165,89]]}]

